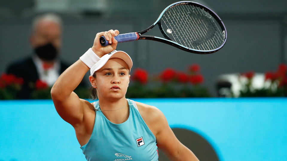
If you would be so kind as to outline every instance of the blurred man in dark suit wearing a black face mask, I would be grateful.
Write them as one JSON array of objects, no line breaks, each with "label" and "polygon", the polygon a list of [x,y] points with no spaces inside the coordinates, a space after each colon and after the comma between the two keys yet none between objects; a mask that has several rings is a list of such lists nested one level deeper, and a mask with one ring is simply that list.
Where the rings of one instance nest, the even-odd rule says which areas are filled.
[{"label": "blurred man in dark suit wearing a black face mask", "polygon": [[24,79],[18,98],[29,99],[37,80],[52,86],[68,68],[68,65],[59,60],[61,35],[62,20],[59,16],[49,13],[33,20],[29,41],[34,53],[29,58],[10,64],[6,71]]}]

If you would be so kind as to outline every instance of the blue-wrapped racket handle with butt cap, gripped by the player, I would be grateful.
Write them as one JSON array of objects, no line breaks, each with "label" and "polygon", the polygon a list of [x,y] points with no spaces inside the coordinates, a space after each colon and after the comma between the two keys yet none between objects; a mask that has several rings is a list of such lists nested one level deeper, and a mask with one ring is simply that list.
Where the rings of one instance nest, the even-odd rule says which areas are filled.
[{"label": "blue-wrapped racket handle with butt cap, gripped by the player", "polygon": [[[118,43],[121,42],[128,42],[128,41],[135,41],[138,40],[138,32],[130,32],[125,34],[120,34],[114,37]],[[103,47],[110,45],[109,41],[106,40],[104,36],[100,37],[100,43]]]}]

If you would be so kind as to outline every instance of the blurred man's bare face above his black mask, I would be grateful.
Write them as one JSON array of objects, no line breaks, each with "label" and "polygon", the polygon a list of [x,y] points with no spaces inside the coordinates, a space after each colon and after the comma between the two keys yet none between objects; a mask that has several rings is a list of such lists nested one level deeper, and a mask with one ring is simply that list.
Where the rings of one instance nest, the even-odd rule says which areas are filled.
[{"label": "blurred man's bare face above his black mask", "polygon": [[39,47],[52,43],[58,50],[61,47],[61,27],[52,21],[40,21],[30,37],[32,47]]}]

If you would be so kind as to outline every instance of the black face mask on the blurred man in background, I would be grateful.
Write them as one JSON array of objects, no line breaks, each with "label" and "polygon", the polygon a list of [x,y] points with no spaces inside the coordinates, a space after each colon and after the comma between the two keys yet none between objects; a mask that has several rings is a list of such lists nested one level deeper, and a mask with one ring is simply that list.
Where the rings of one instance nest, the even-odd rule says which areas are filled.
[{"label": "black face mask on the blurred man in background", "polygon": [[34,52],[39,56],[39,58],[46,61],[54,60],[58,55],[58,51],[52,43],[36,47]]}]

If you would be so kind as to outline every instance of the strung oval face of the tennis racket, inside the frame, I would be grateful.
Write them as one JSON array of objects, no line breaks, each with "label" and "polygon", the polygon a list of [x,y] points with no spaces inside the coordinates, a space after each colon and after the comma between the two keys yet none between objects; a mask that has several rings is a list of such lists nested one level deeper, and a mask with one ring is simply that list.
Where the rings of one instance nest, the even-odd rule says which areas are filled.
[{"label": "strung oval face of the tennis racket, inside the frame", "polygon": [[[222,30],[206,11],[192,5],[178,5],[162,16],[164,28],[170,29],[173,41],[197,50],[212,50],[222,44]],[[207,24],[207,25],[206,25]],[[180,36],[179,36],[180,35]]]}]

